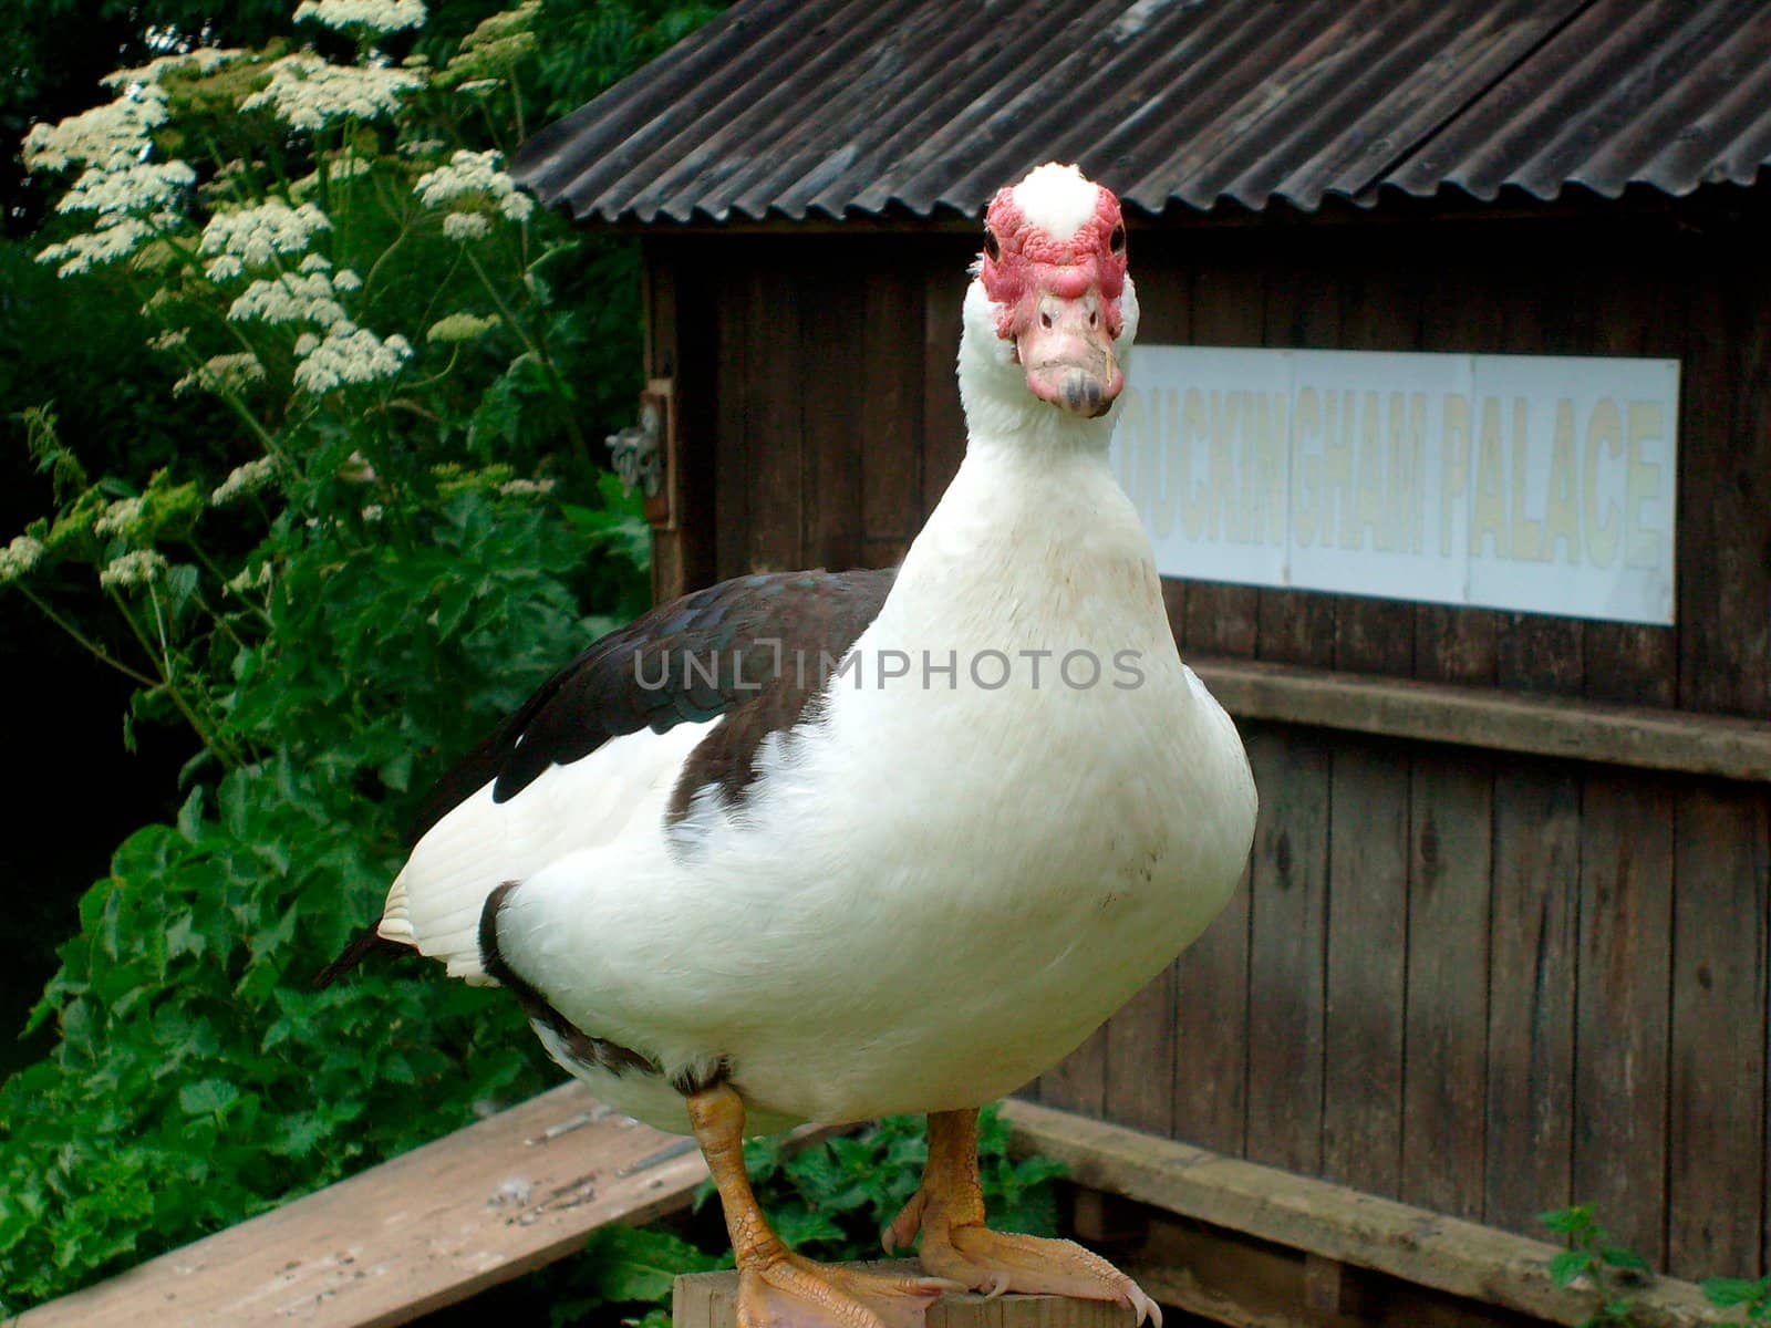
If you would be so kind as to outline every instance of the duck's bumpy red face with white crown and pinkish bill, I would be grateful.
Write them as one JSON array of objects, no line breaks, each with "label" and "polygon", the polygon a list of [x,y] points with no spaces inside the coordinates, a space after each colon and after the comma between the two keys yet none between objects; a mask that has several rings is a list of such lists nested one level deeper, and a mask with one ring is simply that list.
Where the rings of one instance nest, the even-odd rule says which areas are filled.
[{"label": "duck's bumpy red face with white crown and pinkish bill", "polygon": [[1105,414],[1125,388],[1114,358],[1125,328],[1125,218],[1112,191],[1070,166],[1040,166],[999,191],[978,276],[1027,390],[1071,414]]}]

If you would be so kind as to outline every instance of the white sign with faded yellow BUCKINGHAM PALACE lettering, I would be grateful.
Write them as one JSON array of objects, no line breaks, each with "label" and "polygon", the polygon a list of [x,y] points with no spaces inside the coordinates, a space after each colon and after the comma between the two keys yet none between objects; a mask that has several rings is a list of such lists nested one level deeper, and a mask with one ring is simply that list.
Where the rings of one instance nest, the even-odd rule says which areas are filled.
[{"label": "white sign with faded yellow BUCKINGHAM PALACE lettering", "polygon": [[1112,464],[1164,575],[1674,620],[1679,361],[1135,352]]}]

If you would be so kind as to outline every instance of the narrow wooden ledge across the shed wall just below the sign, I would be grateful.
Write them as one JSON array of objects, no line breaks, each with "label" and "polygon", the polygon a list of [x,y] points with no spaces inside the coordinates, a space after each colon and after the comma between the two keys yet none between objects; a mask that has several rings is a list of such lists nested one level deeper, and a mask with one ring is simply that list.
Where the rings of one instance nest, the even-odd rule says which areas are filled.
[{"label": "narrow wooden ledge across the shed wall just below the sign", "polygon": [[1771,783],[1771,722],[1296,664],[1188,659],[1236,719]]}]

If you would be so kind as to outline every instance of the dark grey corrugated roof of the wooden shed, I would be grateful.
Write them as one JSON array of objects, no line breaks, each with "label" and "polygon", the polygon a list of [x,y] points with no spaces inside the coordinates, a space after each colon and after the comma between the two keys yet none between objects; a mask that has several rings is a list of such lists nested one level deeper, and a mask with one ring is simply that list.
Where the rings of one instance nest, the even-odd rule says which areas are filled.
[{"label": "dark grey corrugated roof of the wooden shed", "polygon": [[1041,161],[1162,212],[1682,195],[1771,159],[1764,0],[744,0],[537,135],[604,221],[981,212]]}]

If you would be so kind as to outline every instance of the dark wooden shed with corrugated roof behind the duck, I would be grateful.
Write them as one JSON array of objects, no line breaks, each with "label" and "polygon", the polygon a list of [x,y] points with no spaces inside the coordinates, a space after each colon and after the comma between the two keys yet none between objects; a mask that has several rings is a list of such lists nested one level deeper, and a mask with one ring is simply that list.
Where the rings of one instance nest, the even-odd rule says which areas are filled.
[{"label": "dark wooden shed with corrugated roof behind the duck", "polygon": [[[1254,761],[1247,889],[1027,1096],[1502,1231],[1590,1202],[1674,1275],[1764,1271],[1771,11],[735,5],[519,161],[643,239],[659,597],[903,554],[963,444],[983,205],[1047,159],[1121,193],[1141,347],[1557,356],[1551,398],[1558,363],[1672,365],[1677,404],[1620,499],[1667,508],[1661,611],[1555,590],[1592,531],[1557,544],[1481,473],[1486,420],[1466,501],[1507,524],[1473,552],[1511,533],[1523,600],[1165,577]],[[1633,464],[1583,429],[1589,480]]]}]

